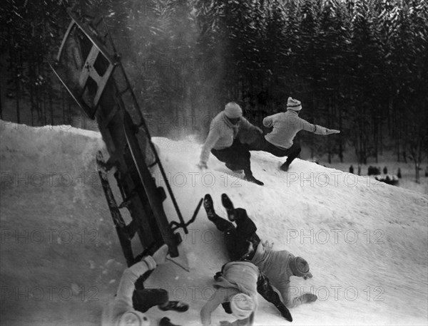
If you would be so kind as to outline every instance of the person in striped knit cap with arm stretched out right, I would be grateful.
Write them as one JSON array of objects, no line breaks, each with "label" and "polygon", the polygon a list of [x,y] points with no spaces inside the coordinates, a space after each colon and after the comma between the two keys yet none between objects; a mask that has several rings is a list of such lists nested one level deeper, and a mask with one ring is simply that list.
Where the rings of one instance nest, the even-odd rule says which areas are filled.
[{"label": "person in striped knit cap with arm stretched out right", "polygon": [[312,123],[299,117],[300,110],[302,110],[302,103],[294,98],[288,98],[287,110],[285,112],[269,115],[263,119],[263,125],[265,127],[272,127],[273,129],[265,135],[265,141],[261,150],[269,152],[276,157],[286,156],[287,160],[280,166],[280,169],[283,171],[288,171],[291,162],[302,150],[298,144],[293,142],[297,132],[306,130],[317,135],[338,134],[340,132],[339,130],[321,127],[320,125],[312,125]]}]

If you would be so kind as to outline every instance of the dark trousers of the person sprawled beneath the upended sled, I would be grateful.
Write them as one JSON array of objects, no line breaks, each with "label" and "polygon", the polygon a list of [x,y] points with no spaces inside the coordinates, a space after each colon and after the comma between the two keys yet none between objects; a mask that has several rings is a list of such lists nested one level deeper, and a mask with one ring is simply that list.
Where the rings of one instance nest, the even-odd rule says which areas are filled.
[{"label": "dark trousers of the person sprawled beneath the upended sled", "polygon": [[132,295],[134,309],[141,312],[146,312],[155,305],[164,305],[169,301],[167,290],[144,288],[144,280],[146,280],[150,274],[151,270],[138,278],[136,281],[136,290],[134,290]]}]

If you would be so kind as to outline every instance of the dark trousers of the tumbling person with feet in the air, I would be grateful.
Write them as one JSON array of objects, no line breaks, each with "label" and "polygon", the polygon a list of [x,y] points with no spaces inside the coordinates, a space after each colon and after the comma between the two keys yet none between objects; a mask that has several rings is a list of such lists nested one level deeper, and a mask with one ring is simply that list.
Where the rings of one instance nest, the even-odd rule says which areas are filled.
[{"label": "dark trousers of the tumbling person with feet in the air", "polygon": [[225,245],[232,261],[245,259],[250,243],[253,244],[254,248],[260,243],[260,238],[255,233],[257,227],[248,217],[245,209],[235,209],[236,227],[230,221],[221,218],[217,214],[215,214],[215,217],[211,221],[217,226],[219,231],[225,233]]}]

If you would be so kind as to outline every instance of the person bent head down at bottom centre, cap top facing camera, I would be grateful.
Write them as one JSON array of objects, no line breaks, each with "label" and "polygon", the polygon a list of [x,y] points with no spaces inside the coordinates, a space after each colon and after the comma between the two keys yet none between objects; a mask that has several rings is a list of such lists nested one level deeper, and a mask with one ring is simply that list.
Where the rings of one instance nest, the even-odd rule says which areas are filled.
[{"label": "person bent head down at bottom centre, cap top facing camera", "polygon": [[225,263],[214,276],[215,292],[200,310],[203,325],[211,325],[211,312],[220,304],[225,312],[238,318],[234,322],[223,321],[220,325],[253,325],[258,307],[258,293],[270,303],[276,303],[282,317],[292,321],[287,307],[282,304],[278,294],[272,289],[269,280],[259,268],[249,261]]}]

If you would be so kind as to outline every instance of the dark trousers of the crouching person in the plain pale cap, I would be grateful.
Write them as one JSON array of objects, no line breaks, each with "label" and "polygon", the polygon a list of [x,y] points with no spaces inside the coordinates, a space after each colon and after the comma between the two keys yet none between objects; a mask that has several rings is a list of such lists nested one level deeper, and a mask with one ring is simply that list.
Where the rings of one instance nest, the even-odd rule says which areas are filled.
[{"label": "dark trousers of the crouching person in the plain pale cap", "polygon": [[221,162],[233,165],[235,169],[243,169],[246,176],[253,175],[250,167],[250,151],[238,139],[232,146],[225,149],[211,149],[211,153]]}]

